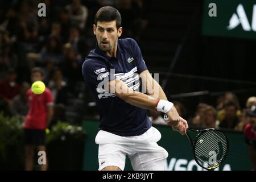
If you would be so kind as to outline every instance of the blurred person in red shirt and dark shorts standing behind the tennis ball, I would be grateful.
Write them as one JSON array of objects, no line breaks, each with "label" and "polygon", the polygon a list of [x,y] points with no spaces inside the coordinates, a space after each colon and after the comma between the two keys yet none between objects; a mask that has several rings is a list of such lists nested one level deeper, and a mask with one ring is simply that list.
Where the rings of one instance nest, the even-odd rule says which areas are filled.
[{"label": "blurred person in red shirt and dark shorts standing behind the tennis ball", "polygon": [[[31,81],[42,81],[43,72],[40,68],[31,70]],[[42,94],[34,94],[31,89],[27,91],[28,104],[30,109],[24,122],[24,150],[25,150],[25,169],[33,169],[34,148],[38,151],[46,152],[46,129],[51,122],[53,115],[53,100],[51,91],[46,88]],[[45,153],[46,154],[46,153]],[[40,164],[42,171],[47,170],[48,161]]]}]

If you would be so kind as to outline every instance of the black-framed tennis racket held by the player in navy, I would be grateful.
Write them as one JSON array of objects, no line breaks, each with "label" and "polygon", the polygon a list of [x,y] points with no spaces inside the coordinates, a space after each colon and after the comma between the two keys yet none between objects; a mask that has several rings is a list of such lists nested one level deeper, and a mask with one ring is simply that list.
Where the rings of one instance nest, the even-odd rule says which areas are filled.
[{"label": "black-framed tennis racket held by the player in navy", "polygon": [[[164,115],[164,120],[169,120],[167,114]],[[188,132],[186,134],[191,143],[192,154],[196,163],[207,170],[213,170],[219,167],[228,155],[229,143],[226,135],[213,128],[188,130],[198,133],[194,140]]]}]

